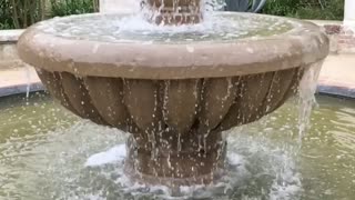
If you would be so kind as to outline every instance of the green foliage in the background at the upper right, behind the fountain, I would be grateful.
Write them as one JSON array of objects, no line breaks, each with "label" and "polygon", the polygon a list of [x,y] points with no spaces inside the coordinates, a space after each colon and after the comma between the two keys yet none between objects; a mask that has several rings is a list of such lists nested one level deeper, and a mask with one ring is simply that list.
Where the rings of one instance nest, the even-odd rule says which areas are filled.
[{"label": "green foliage in the background at the upper right, behind the fountain", "polygon": [[343,20],[344,0],[267,0],[262,12],[301,19]]}]

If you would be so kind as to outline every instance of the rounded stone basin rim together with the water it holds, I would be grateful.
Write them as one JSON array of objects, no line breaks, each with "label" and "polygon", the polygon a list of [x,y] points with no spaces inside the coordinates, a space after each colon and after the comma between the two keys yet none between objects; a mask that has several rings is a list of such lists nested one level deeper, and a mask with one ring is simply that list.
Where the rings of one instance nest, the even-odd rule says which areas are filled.
[{"label": "rounded stone basin rim together with the water it holds", "polygon": [[278,71],[328,52],[313,23],[229,12],[179,27],[120,13],[55,18],[28,29],[19,46],[26,62],[49,71],[160,80]]}]

